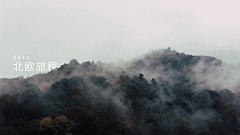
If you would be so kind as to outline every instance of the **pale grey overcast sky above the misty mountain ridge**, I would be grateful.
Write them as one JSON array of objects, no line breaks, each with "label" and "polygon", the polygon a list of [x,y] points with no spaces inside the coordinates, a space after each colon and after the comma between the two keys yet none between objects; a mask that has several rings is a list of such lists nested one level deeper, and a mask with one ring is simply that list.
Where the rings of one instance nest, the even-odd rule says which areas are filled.
[{"label": "pale grey overcast sky above the misty mountain ridge", "polygon": [[240,1],[0,0],[0,78],[39,73],[15,62],[127,61],[167,47],[238,63]]}]

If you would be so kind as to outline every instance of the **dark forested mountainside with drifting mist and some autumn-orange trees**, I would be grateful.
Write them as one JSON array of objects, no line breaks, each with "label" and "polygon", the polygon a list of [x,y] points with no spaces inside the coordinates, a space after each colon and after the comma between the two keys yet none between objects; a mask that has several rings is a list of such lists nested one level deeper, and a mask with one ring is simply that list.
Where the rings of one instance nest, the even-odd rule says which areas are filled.
[{"label": "dark forested mountainside with drifting mist and some autumn-orange trees", "polygon": [[2,78],[0,135],[239,135],[239,71],[168,48]]}]

